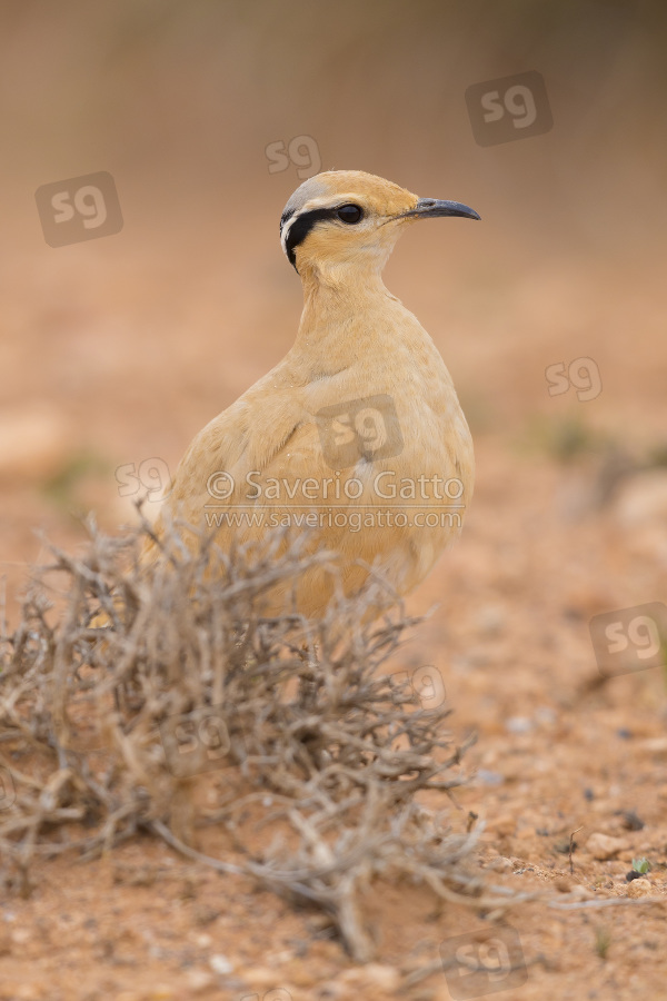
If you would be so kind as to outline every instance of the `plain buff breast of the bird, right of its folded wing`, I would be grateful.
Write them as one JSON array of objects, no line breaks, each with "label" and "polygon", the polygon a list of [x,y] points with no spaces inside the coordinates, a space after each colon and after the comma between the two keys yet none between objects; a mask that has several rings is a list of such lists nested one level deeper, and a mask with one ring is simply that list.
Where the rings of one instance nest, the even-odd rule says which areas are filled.
[{"label": "plain buff breast of the bird, right of its folded wing", "polygon": [[459,535],[474,486],[472,442],[449,373],[430,339],[417,347],[338,371],[309,406],[331,476],[322,539],[374,565],[400,594]]}]

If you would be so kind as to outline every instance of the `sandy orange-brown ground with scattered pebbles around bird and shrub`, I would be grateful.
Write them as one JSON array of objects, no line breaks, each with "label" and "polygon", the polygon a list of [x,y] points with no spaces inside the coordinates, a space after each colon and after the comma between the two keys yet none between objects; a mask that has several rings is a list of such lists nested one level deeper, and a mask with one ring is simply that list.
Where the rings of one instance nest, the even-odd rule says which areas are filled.
[{"label": "sandy orange-brown ground with scattered pebbles around bird and shrub", "polygon": [[[491,277],[491,250],[474,267],[472,235],[458,232],[456,267],[451,247],[445,271],[435,258],[435,230],[419,259],[410,234],[387,278],[451,368],[478,463],[464,536],[409,606],[437,607],[396,670],[434,665],[454,732],[478,734],[468,755],[478,776],[458,809],[441,803],[444,822],[460,827],[474,811],[484,824],[475,864],[494,884],[550,900],[498,923],[439,906],[424,886],[378,884],[365,904],[377,959],[359,968],[321,915],[138,839],[94,863],[42,862],[28,900],[3,896],[4,1001],[382,1001],[429,965],[402,997],[667,998],[667,675],[603,678],[589,633],[594,615],[667,601],[667,473],[627,476],[604,506],[598,497],[599,437],[640,459],[665,445],[659,269],[538,266],[517,251],[504,284],[500,248]],[[74,546],[83,534],[72,509],[94,508],[110,529],[128,521],[115,469],[149,457],[173,469],[192,434],[290,344],[299,288],[275,235],[259,247],[239,238],[222,267],[215,244],[202,250],[193,229],[179,234],[178,246],[158,234],[143,247],[113,237],[8,256],[0,548],[10,618],[24,564],[43,556],[36,527]],[[581,357],[598,368],[599,396],[550,397],[547,366]],[[564,462],[571,428],[587,447]],[[201,846],[229,851],[218,831]],[[637,889],[626,873],[643,856],[653,870]],[[461,935],[489,967],[472,979],[440,962]],[[512,972],[497,967],[506,954]]]}]

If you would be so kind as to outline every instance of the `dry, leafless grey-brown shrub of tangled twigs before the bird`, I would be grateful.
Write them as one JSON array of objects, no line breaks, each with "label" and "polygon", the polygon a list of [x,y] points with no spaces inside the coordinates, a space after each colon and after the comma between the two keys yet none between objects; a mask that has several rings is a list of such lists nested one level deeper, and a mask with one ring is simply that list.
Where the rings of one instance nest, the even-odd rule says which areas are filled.
[{"label": "dry, leafless grey-brown shrub of tangled twigs before the bird", "polygon": [[[414,625],[381,582],[339,595],[321,622],[271,618],[271,585],[327,554],[279,535],[261,553],[225,554],[210,537],[191,553],[169,532],[147,568],[147,522],[122,538],[92,525],[90,535],[82,556],[51,547],[2,638],[6,884],[29,892],[37,854],[90,859],[148,831],[326,909],[359,960],[374,952],[360,902],[378,875],[501,903],[482,899],[465,862],[475,834],[437,824],[420,796],[437,791],[447,805],[461,749],[447,707],[420,707],[409,683],[380,670]],[[384,615],[365,621],[378,603]],[[201,805],[207,782],[213,811]],[[232,832],[237,861],[193,846],[210,824]]]}]

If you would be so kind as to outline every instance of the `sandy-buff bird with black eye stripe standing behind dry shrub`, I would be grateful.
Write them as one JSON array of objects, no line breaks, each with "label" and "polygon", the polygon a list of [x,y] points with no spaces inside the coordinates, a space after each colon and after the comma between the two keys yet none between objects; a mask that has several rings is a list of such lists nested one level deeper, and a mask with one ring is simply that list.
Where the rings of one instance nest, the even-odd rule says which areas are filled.
[{"label": "sandy-buff bird with black eye stripe standing behind dry shrub", "polygon": [[270,607],[279,614],[291,602],[308,618],[370,578],[399,598],[424,581],[460,534],[472,440],[440,353],[382,269],[408,226],[457,216],[480,219],[360,170],[328,170],[297,188],[280,218],[303,290],[293,346],[196,435],[146,564],[177,523],[192,526],[179,528],[190,548],[199,526],[226,552],[261,546],[273,529],[305,533],[308,551],[332,563],[278,582]]}]

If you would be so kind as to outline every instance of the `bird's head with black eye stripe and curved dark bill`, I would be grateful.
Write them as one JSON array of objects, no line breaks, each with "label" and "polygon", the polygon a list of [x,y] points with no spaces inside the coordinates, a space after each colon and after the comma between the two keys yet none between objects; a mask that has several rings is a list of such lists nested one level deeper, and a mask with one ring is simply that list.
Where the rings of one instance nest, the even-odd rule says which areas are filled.
[{"label": "bird's head with black eye stripe and curved dark bill", "polygon": [[303,181],[285,207],[280,240],[303,277],[345,280],[348,267],[381,271],[404,227],[417,219],[464,216],[467,205],[418,198],[362,170],[328,170]]}]

